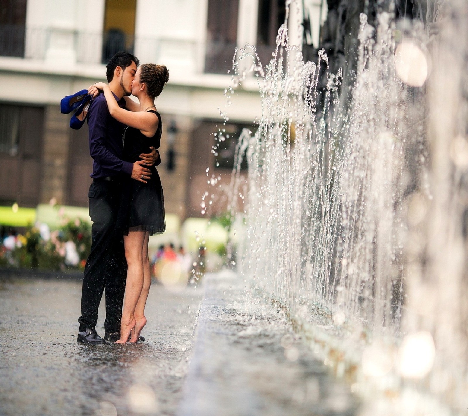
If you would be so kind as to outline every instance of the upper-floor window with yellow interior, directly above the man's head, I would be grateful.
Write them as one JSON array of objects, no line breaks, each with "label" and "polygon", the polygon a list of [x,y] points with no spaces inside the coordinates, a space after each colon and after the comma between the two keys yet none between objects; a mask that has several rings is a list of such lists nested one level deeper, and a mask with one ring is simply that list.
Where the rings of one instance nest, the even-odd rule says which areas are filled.
[{"label": "upper-floor window with yellow interior, directly above the man's head", "polygon": [[119,51],[133,53],[136,5],[136,0],[106,0],[102,63]]}]

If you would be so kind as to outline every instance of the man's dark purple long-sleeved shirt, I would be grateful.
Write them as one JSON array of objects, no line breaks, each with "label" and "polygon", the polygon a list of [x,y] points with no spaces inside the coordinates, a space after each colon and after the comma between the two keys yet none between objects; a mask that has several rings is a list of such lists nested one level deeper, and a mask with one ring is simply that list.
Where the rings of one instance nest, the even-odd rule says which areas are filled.
[{"label": "man's dark purple long-sleeved shirt", "polygon": [[[125,100],[118,100],[125,107]],[[88,111],[89,153],[93,158],[93,179],[106,176],[132,175],[133,164],[123,161],[123,134],[125,124],[109,114],[104,94],[99,94]]]}]

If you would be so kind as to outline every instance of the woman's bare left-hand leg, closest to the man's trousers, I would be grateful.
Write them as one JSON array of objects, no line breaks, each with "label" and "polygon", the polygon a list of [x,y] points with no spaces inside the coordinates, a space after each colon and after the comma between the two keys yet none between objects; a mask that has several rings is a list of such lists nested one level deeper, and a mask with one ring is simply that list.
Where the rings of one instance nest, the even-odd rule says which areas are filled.
[{"label": "woman's bare left-hand leg, closest to the man's trousers", "polygon": [[135,319],[135,307],[143,289],[142,249],[145,234],[144,231],[130,231],[128,235],[124,235],[125,258],[128,270],[122,321],[120,321],[120,339],[117,341],[119,344],[128,341],[130,333],[137,323]]}]

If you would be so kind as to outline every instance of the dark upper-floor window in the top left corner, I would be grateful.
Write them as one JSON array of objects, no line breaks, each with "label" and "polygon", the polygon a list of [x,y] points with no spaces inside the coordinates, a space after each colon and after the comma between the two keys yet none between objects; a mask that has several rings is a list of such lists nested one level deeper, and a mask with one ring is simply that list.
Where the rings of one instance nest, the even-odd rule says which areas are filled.
[{"label": "dark upper-floor window in the top left corner", "polygon": [[0,55],[24,56],[26,0],[2,0],[0,7]]}]

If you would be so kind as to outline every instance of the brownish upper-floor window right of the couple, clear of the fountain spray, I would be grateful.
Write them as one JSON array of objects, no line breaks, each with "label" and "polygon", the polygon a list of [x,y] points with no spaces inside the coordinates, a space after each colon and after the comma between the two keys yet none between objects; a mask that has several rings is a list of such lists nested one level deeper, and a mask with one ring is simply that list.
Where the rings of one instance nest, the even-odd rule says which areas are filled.
[{"label": "brownish upper-floor window right of the couple, clear of the fountain spray", "polygon": [[208,0],[205,72],[226,74],[231,69],[238,12],[238,0]]}]

